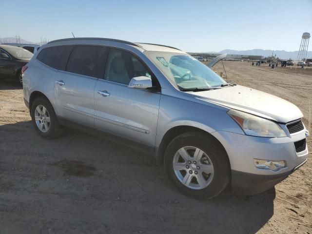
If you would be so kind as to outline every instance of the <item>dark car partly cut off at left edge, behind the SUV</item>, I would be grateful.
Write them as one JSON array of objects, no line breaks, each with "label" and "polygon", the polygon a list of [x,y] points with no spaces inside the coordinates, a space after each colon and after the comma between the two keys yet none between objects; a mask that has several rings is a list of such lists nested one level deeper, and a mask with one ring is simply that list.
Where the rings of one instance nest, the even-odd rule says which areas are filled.
[{"label": "dark car partly cut off at left edge, behind the SUV", "polygon": [[28,50],[17,46],[0,45],[0,79],[22,83],[21,69],[33,57]]}]

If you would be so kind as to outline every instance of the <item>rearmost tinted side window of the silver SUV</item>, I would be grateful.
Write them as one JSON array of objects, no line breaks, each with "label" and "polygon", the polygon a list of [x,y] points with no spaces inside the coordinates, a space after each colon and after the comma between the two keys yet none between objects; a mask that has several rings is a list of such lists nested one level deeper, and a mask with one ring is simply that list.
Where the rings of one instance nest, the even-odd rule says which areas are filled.
[{"label": "rearmost tinted side window of the silver SUV", "polygon": [[72,45],[61,45],[44,48],[40,51],[37,59],[50,67],[65,71],[73,47]]}]

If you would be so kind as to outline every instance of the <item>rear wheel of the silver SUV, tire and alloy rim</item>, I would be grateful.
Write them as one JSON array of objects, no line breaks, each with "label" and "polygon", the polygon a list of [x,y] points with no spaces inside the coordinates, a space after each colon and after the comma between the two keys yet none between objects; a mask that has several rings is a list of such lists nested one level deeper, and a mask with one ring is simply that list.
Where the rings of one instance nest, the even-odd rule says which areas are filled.
[{"label": "rear wheel of the silver SUV, tire and alloy rim", "polygon": [[41,137],[53,139],[59,137],[63,132],[55,111],[46,98],[39,97],[34,100],[31,107],[31,118],[36,132]]}]

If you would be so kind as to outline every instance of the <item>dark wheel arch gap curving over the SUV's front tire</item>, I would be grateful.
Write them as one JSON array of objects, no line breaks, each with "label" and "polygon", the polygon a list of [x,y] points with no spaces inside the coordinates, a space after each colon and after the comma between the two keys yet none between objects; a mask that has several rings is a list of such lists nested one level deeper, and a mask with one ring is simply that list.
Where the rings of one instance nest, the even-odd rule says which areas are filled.
[{"label": "dark wheel arch gap curving over the SUV's front tire", "polygon": [[164,154],[166,151],[166,148],[168,144],[177,136],[188,133],[188,132],[196,132],[199,134],[204,135],[205,137],[208,137],[210,140],[214,141],[215,144],[220,146],[220,149],[224,152],[224,154],[227,156],[229,167],[231,168],[230,159],[229,156],[224,148],[224,146],[221,144],[221,142],[215,138],[213,135],[211,135],[209,132],[202,130],[200,128],[194,127],[194,126],[188,126],[188,125],[180,125],[175,126],[171,129],[169,129],[165,135],[162,137],[162,140],[159,144],[159,147],[156,151],[156,162],[158,165],[162,165],[164,163]]}]

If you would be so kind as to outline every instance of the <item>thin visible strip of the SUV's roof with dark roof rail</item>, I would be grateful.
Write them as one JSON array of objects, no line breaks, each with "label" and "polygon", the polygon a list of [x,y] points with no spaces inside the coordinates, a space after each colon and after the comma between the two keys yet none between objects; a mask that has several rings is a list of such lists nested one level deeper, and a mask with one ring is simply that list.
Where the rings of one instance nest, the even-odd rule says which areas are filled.
[{"label": "thin visible strip of the SUV's roof with dark roof rail", "polygon": [[139,47],[141,50],[145,51],[161,51],[161,52],[176,52],[176,53],[185,53],[175,47],[168,46],[168,45],[159,45],[159,44],[153,44],[153,43],[141,43],[141,42],[130,42],[126,40],[119,40],[119,39],[110,39],[110,38],[66,38],[66,39],[58,39],[48,42],[48,44],[55,43],[55,42],[61,42],[61,41],[76,41],[76,40],[102,40],[102,41],[115,41],[124,43],[127,45]]}]

